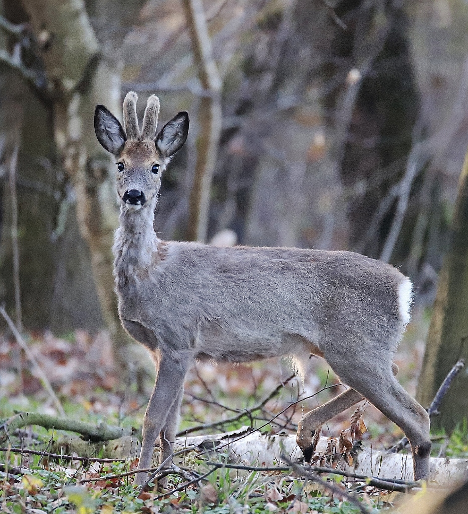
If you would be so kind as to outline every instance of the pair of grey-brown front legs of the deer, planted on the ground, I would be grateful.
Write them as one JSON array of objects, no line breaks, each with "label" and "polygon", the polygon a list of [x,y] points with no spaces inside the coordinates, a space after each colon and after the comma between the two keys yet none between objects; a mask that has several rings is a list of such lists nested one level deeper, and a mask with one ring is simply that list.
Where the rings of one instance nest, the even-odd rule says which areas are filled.
[{"label": "pair of grey-brown front legs of the deer, planted on the ground", "polygon": [[[175,430],[173,427],[177,423],[179,415],[180,399],[187,367],[185,363],[174,361],[164,355],[159,359],[158,376],[143,419],[140,469],[150,467],[154,442],[164,427],[167,430],[167,421],[170,422],[169,432]],[[168,433],[168,435],[172,438],[171,433]],[[163,448],[166,448],[166,452],[171,452],[171,441],[166,438],[166,443],[164,443],[164,439],[162,438]],[[146,479],[147,472],[136,473],[133,484],[142,485],[146,482]]]}]

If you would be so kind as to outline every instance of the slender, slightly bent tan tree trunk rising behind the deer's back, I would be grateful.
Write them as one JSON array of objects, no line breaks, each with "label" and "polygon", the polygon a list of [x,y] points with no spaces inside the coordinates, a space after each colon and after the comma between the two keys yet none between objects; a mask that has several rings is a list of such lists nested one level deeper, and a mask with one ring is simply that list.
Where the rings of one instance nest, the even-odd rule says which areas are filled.
[{"label": "slender, slightly bent tan tree trunk rising behind the deer's back", "polygon": [[211,179],[221,135],[221,79],[213,58],[205,13],[201,0],[183,0],[190,29],[193,56],[198,77],[206,95],[198,113],[197,161],[189,199],[189,221],[186,237],[189,241],[206,240]]}]

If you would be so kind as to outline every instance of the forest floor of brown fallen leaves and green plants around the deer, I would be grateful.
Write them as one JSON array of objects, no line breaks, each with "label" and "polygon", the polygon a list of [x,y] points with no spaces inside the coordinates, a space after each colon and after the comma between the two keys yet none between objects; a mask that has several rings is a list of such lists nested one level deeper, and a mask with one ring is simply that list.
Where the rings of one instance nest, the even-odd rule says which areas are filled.
[{"label": "forest floor of brown fallen leaves and green plants around the deer", "polygon": [[[423,332],[421,326],[416,329],[412,325],[396,358],[398,379],[411,394],[415,393],[423,356],[420,336]],[[96,425],[104,422],[127,428],[141,427],[152,386],[151,376],[145,377],[135,371],[123,380],[109,358],[111,341],[105,332],[91,336],[76,331],[62,338],[47,332],[33,333],[28,335],[27,343],[60,398],[67,417]],[[290,378],[284,387],[278,388],[289,377],[290,367],[278,359],[235,366],[198,363],[185,381],[180,430],[182,433],[212,434],[251,425],[255,428],[263,426],[262,431],[293,433],[302,412],[343,390],[327,364],[317,358],[310,359],[304,384],[298,378]],[[276,394],[272,395],[275,390]],[[301,400],[310,396],[313,397]],[[268,397],[265,405],[255,409]],[[13,338],[4,336],[0,338],[0,420],[10,418],[18,411],[58,415],[24,352]],[[242,412],[245,414],[242,419],[226,421],[239,417]],[[323,427],[322,435],[339,436],[342,430],[349,428],[352,414],[353,409],[332,420]],[[363,420],[367,428],[362,434],[365,446],[384,450],[402,436],[398,427],[372,406],[366,407]],[[197,469],[199,475],[206,471],[196,456],[184,456],[183,462],[178,461],[179,468],[174,468],[174,473],[169,476],[168,493],[162,494],[151,484],[140,492],[133,488],[131,475],[116,476],[132,471],[138,462],[130,453],[118,461],[118,457],[127,451],[125,447],[115,447],[110,454],[111,445],[97,451],[97,456],[107,456],[109,462],[70,461],[49,454],[76,457],[81,453],[76,434],[29,426],[8,435],[0,450],[1,512],[363,511],[343,496],[322,494],[323,491],[314,484],[306,484],[291,473],[277,471],[246,474],[216,469],[205,480],[176,490],[193,476],[190,469]],[[465,436],[459,437],[454,451],[468,451],[465,440]],[[449,445],[449,452],[451,447]],[[15,452],[14,448],[23,451]],[[40,454],[27,453],[30,450]],[[114,478],[103,478],[109,476]],[[392,508],[404,496],[365,484],[356,489],[356,483],[346,481],[342,476],[337,478],[335,475],[334,480],[345,495],[353,488],[359,491],[364,511],[368,512]]]}]

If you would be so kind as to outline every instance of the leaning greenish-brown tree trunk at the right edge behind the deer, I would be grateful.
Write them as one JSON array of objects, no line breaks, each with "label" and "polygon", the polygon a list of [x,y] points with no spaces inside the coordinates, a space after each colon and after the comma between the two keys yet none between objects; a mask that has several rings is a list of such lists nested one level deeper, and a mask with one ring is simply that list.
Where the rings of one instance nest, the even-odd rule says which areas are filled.
[{"label": "leaning greenish-brown tree trunk at the right edge behind the deer", "polygon": [[[459,358],[468,362],[468,154],[460,175],[449,249],[439,277],[431,325],[427,335],[417,399],[431,403],[437,389]],[[466,419],[468,376],[460,374],[432,424],[451,432]]]}]

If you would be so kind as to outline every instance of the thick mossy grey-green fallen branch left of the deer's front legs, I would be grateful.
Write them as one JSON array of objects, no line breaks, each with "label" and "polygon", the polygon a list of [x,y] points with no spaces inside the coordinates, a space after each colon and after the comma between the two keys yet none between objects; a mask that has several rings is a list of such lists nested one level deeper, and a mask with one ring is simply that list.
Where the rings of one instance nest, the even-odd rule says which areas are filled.
[{"label": "thick mossy grey-green fallen branch left of the deer's front legs", "polygon": [[94,425],[92,423],[85,423],[71,418],[62,418],[57,416],[50,416],[49,414],[39,414],[36,412],[20,412],[11,418],[7,419],[3,425],[0,426],[0,442],[7,438],[9,431],[23,428],[28,425],[38,425],[48,430],[67,430],[69,432],[77,432],[89,439],[91,442],[108,441],[111,439],[119,439],[123,436],[135,437],[141,440],[141,433],[132,428],[113,427],[106,423]]}]

